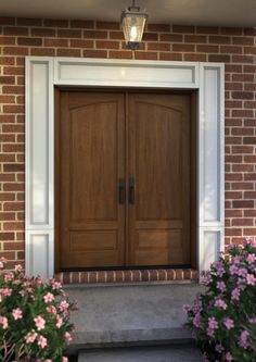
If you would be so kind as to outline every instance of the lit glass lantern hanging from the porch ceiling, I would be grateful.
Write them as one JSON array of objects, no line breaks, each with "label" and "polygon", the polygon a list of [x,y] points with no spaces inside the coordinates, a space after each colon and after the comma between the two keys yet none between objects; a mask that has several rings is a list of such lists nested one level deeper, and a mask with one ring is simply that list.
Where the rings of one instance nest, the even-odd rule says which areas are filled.
[{"label": "lit glass lantern hanging from the porch ceiling", "polygon": [[139,7],[132,5],[121,11],[121,27],[126,40],[127,48],[136,50],[139,48],[148,14],[145,11],[140,11]]}]

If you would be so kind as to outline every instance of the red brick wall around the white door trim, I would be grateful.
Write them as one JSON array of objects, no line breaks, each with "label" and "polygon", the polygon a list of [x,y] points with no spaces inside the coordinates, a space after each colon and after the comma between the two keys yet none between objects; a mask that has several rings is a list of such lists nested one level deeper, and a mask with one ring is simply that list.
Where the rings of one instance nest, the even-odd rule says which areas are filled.
[{"label": "red brick wall around the white door trim", "polygon": [[24,262],[25,55],[226,63],[226,244],[256,235],[256,30],[150,24],[126,50],[118,23],[0,18],[0,255]]}]

